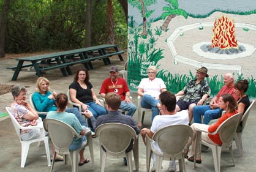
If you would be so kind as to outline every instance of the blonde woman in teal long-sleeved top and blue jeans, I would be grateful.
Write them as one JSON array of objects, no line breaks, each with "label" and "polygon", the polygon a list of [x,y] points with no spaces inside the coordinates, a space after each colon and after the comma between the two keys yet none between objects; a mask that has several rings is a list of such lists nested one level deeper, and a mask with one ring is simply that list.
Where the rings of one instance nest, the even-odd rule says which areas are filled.
[{"label": "blonde woman in teal long-sleeved top and blue jeans", "polygon": [[[57,110],[55,105],[57,94],[55,91],[53,91],[53,93],[49,91],[49,85],[50,81],[45,77],[39,77],[36,81],[36,92],[34,92],[32,100],[37,111],[49,112]],[[77,108],[66,108],[66,112],[75,114],[81,125],[84,125],[85,127],[88,126]],[[43,116],[42,119],[44,118],[45,116]]]}]

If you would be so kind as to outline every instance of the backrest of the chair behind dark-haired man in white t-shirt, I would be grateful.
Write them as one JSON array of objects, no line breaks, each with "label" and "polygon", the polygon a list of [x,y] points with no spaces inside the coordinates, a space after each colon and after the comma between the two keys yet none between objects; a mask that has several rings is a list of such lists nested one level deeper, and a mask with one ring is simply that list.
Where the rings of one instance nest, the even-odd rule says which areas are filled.
[{"label": "backrest of the chair behind dark-haired man in white t-shirt", "polygon": [[170,125],[158,130],[152,136],[164,154],[179,155],[184,151],[187,141],[192,138],[193,130],[189,125]]}]

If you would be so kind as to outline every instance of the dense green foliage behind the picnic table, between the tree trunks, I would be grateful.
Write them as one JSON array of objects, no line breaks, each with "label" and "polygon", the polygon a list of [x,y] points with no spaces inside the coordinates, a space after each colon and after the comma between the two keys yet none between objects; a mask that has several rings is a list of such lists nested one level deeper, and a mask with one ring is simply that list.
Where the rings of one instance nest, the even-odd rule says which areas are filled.
[{"label": "dense green foliage behind the picnic table, between the tree trunks", "polygon": [[[113,0],[113,9],[116,42],[126,48],[126,18],[118,0]],[[21,53],[84,47],[85,23],[85,1],[10,1],[5,51]],[[92,2],[91,30],[92,45],[107,43],[107,1]]]}]

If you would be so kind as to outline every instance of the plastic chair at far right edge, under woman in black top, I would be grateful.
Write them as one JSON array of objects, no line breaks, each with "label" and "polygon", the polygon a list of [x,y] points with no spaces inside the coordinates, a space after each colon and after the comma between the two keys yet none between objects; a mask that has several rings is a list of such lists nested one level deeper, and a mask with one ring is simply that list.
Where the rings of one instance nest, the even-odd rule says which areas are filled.
[{"label": "plastic chair at far right edge, under woman in black top", "polygon": [[[249,113],[250,113],[250,108],[252,108],[252,105],[254,105],[254,102],[255,102],[255,100],[252,100],[250,102],[250,106],[247,108],[246,112],[243,114],[243,116],[241,118],[241,122],[243,122],[243,130],[244,130],[247,118],[248,118]],[[236,134],[235,134],[236,148],[238,148],[238,152],[239,152],[240,157],[243,156],[243,143],[242,143],[243,130],[242,130],[242,132],[236,132]]]}]

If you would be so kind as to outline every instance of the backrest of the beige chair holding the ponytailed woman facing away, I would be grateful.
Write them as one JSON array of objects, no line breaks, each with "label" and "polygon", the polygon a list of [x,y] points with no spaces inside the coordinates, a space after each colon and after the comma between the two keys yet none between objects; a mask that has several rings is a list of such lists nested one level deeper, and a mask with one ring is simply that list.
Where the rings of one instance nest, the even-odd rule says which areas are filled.
[{"label": "backrest of the beige chair holding the ponytailed woman facing away", "polygon": [[69,124],[57,119],[44,119],[43,127],[49,133],[51,141],[59,151],[69,151],[69,146],[77,132]]}]

